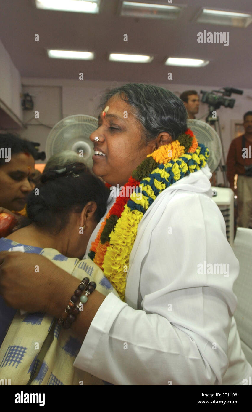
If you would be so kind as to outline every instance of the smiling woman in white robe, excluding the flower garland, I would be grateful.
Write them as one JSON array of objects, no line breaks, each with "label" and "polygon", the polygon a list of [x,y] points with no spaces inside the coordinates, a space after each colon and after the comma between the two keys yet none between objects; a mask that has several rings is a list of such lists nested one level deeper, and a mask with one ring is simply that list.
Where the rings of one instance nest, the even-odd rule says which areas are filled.
[{"label": "smiling woman in white robe, excluding the flower garland", "polygon": [[[149,123],[155,115],[161,118],[160,105],[158,109],[155,107],[155,99],[162,94],[167,116],[170,116],[167,100],[173,99],[176,103],[173,113],[180,119],[184,117],[184,123],[186,119],[183,103],[164,89],[141,84],[122,89],[113,93],[114,98],[110,96],[104,105],[106,116],[100,117],[99,128],[90,136],[98,142],[94,143],[95,150],[106,155],[104,158],[96,155],[93,171],[112,186],[125,184],[132,170],[155,148],[153,140],[152,143],[149,140],[149,146],[145,146],[148,149],[145,152],[141,149],[142,135],[138,134],[137,126],[143,124],[143,116],[135,111],[137,93],[135,104],[123,101],[120,94],[142,93],[141,105],[145,104],[151,115]],[[127,98],[132,102],[130,93]],[[125,111],[128,120],[123,123]],[[139,111],[142,114],[141,109]],[[170,117],[166,120],[169,124]],[[111,131],[109,135],[107,123],[120,131],[113,131],[114,134]],[[169,128],[161,124],[155,143],[166,144],[171,142],[171,137]],[[226,239],[224,218],[211,199],[210,177],[206,165],[167,187],[150,205],[139,223],[129,256],[125,302],[112,293],[101,297],[95,292],[86,304],[86,317],[79,316],[72,325],[83,337],[74,362],[77,368],[116,385],[242,385],[243,380],[252,375],[233,317],[236,297],[232,287],[239,264]],[[114,200],[111,197],[107,211]],[[18,254],[15,260],[0,254],[0,261],[5,260],[0,293],[6,300],[15,302],[16,307],[21,303],[27,310],[43,307],[53,316],[60,316],[76,283],[67,278],[65,272],[50,266],[51,262],[44,262],[40,256],[38,262],[31,256],[28,262]],[[32,265],[39,264],[43,284],[48,282],[50,272],[55,275],[57,272],[65,287],[60,300],[55,296],[57,280],[50,278],[50,282],[54,282],[54,293],[43,289],[36,304],[29,301],[27,294],[37,287],[37,281],[28,269],[22,269],[24,263],[30,270]],[[208,264],[222,264],[222,271],[210,274],[211,271],[205,270]],[[18,266],[21,267],[20,280],[15,275]],[[202,267],[203,271],[199,270]],[[17,288],[26,292],[22,302],[15,293]]]}]

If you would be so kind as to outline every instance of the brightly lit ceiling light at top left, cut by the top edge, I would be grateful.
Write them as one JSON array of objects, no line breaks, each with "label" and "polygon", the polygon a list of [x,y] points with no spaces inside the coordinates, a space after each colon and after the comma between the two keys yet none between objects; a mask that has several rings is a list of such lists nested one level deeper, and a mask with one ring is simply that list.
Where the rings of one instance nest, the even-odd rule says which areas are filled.
[{"label": "brightly lit ceiling light at top left, cut by the top edge", "polygon": [[99,13],[100,0],[35,0],[37,9],[64,12]]}]

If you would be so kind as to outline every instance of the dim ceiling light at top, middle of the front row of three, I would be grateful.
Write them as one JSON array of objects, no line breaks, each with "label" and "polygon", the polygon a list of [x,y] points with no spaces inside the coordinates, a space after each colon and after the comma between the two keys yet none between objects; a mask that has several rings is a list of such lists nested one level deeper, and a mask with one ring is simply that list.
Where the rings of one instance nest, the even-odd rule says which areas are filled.
[{"label": "dim ceiling light at top, middle of the front row of three", "polygon": [[177,19],[181,9],[182,7],[178,6],[123,1],[120,14],[153,19]]}]

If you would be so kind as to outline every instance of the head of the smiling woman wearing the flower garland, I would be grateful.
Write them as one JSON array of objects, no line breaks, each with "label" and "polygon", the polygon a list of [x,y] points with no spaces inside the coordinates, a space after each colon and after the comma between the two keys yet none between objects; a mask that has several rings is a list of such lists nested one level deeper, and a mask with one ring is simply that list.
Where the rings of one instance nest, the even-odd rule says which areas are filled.
[{"label": "head of the smiling woman wearing the flower garland", "polygon": [[125,84],[104,95],[101,109],[106,106],[90,139],[105,154],[93,157],[93,171],[111,185],[124,185],[148,154],[187,129],[183,101],[162,87]]}]

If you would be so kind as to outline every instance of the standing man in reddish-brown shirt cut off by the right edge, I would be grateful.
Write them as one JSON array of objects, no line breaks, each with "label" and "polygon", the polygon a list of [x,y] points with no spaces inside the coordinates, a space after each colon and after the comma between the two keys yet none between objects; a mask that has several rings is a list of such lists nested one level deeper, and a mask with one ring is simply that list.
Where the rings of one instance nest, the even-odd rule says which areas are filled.
[{"label": "standing man in reddish-brown shirt cut off by the right edge", "polygon": [[[235,138],[227,155],[227,178],[231,189],[238,197],[237,225],[252,229],[252,111],[243,116],[245,133]],[[243,150],[247,148],[247,150]],[[237,190],[234,176],[238,174]]]}]

